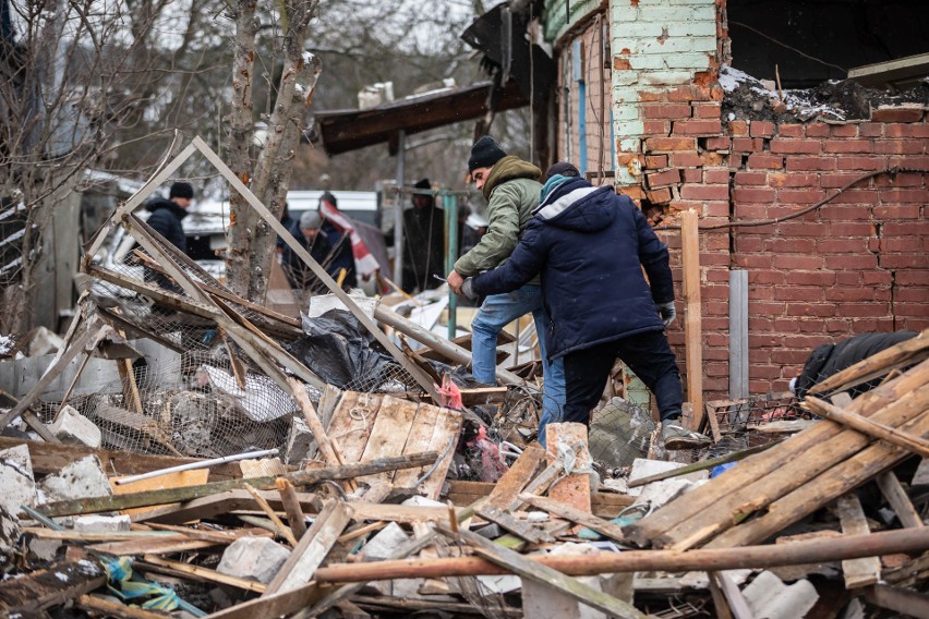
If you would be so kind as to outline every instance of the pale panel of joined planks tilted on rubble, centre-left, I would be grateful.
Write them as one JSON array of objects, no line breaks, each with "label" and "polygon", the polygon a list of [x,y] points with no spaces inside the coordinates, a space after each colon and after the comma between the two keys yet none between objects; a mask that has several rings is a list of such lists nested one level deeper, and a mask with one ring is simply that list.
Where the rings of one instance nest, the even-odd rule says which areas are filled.
[{"label": "pale panel of joined planks tilted on rubble, centre-left", "polygon": [[395,487],[414,487],[437,499],[461,430],[461,413],[432,404],[409,402],[390,396],[347,391],[333,413],[328,436],[338,441],[347,462],[370,462],[384,456],[437,451],[442,459],[432,466],[385,472],[360,481],[389,482]]}]

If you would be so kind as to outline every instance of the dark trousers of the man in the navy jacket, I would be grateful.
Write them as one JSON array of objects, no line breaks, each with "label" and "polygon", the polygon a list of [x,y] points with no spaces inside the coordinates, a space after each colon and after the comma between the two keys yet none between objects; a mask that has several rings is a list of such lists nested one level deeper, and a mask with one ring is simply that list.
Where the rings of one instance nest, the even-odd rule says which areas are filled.
[{"label": "dark trousers of the man in the navy jacket", "polygon": [[565,355],[565,422],[590,423],[619,357],[657,400],[662,420],[680,416],[680,371],[663,331],[647,331]]}]

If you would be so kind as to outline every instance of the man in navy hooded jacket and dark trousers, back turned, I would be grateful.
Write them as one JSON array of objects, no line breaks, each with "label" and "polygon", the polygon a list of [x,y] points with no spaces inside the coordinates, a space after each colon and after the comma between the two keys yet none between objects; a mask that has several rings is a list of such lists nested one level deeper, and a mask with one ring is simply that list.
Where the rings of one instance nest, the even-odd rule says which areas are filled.
[{"label": "man in navy hooded jacket and dark trousers, back turned", "polygon": [[562,421],[589,423],[618,356],[655,395],[665,447],[704,446],[705,436],[680,424],[680,373],[664,335],[675,317],[667,247],[629,197],[578,177],[570,163],[553,166],[509,260],[463,291],[498,294],[541,272],[546,350],[565,363]]}]

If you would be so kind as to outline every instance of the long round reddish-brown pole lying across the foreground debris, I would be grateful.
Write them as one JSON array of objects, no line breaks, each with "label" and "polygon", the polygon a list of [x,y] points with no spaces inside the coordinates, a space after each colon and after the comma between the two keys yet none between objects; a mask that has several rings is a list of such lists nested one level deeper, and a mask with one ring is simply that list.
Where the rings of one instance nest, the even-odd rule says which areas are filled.
[{"label": "long round reddish-brown pole lying across the foreground debris", "polygon": [[[870,535],[849,535],[713,550],[629,550],[600,555],[530,555],[532,559],[572,576],[637,571],[721,571],[823,563],[929,549],[929,531],[901,529]],[[316,570],[318,583],[370,582],[407,578],[475,576],[511,573],[476,557],[407,559],[373,563],[341,563]]]}]

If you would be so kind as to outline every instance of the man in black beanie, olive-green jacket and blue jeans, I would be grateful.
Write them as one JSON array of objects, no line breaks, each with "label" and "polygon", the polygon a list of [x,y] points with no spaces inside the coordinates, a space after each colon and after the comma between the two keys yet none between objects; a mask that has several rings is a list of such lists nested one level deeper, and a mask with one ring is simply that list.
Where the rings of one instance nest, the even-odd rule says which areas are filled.
[{"label": "man in black beanie, olive-green jacket and blue jeans", "polygon": [[[461,294],[464,278],[498,267],[519,243],[532,210],[542,193],[542,170],[519,157],[507,156],[493,137],[485,135],[471,147],[468,171],[487,201],[487,232],[474,247],[458,258],[448,274],[448,284]],[[545,333],[548,314],[542,303],[538,278],[519,290],[492,294],[484,300],[471,321],[471,372],[486,385],[496,383],[496,348],[500,329],[526,314],[532,314],[542,351],[545,379],[539,442],[545,445],[545,425],[562,418],[565,405],[565,371],[560,360],[548,363]]]}]

